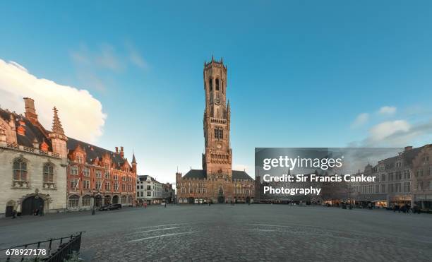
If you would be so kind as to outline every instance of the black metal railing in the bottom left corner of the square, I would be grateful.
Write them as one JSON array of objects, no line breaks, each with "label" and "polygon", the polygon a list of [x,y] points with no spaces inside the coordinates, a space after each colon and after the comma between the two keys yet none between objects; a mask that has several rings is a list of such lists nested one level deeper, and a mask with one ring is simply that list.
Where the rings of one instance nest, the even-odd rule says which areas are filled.
[{"label": "black metal railing in the bottom left corner of the square", "polygon": [[45,241],[11,246],[1,249],[0,255],[6,254],[6,261],[47,261],[63,262],[73,252],[78,253],[81,246],[81,235],[85,231],[76,232],[67,237],[48,239]]}]

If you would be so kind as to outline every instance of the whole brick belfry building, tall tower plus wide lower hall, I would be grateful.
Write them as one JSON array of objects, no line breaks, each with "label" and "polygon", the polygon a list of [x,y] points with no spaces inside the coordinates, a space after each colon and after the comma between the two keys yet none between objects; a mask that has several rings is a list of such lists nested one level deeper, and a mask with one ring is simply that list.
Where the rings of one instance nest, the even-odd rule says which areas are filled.
[{"label": "whole brick belfry building, tall tower plus wide lower hall", "polygon": [[244,171],[232,170],[229,144],[231,109],[227,101],[227,66],[220,61],[204,62],[205,110],[203,169],[191,169],[183,177],[176,173],[177,201],[253,201],[253,179]]}]

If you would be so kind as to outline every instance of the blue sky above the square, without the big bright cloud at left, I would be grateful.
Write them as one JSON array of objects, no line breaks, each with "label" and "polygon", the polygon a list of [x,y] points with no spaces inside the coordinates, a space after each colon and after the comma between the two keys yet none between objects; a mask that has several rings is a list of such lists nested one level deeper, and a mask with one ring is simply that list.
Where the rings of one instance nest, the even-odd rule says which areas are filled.
[{"label": "blue sky above the square, without the big bright cloud at left", "polygon": [[251,174],[255,147],[432,138],[430,1],[2,1],[0,10],[0,59],[88,90],[107,116],[93,143],[134,150],[140,174],[161,181],[174,181],[177,166],[200,168],[212,54],[229,70],[234,167]]}]

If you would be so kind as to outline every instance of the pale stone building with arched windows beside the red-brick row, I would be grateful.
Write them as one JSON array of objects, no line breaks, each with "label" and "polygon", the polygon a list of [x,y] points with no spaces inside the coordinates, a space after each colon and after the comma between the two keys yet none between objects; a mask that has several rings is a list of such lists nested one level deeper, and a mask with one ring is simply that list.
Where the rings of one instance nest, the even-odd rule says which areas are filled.
[{"label": "pale stone building with arched windows beside the red-brick row", "polygon": [[37,120],[34,101],[25,115],[0,109],[0,217],[66,210],[66,141],[54,107],[52,131]]}]

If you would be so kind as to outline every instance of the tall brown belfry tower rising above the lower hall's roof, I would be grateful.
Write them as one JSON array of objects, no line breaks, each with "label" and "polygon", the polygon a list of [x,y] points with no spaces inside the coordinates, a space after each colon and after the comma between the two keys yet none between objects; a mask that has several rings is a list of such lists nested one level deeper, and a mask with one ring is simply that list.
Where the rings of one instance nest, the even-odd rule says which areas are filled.
[{"label": "tall brown belfry tower rising above the lower hall's roof", "polygon": [[232,179],[232,149],[229,146],[230,109],[227,102],[227,66],[220,61],[204,61],[203,169],[207,177]]}]

